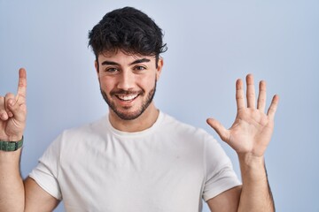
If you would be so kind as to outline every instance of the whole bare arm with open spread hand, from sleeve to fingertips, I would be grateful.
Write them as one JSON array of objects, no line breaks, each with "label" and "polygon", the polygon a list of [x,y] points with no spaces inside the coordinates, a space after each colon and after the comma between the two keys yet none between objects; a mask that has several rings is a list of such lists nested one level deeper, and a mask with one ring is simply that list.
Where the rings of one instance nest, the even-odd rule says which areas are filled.
[{"label": "whole bare arm with open spread hand, from sleeve to fingertips", "polygon": [[255,106],[253,75],[247,75],[246,84],[247,105],[245,105],[243,82],[241,79],[237,80],[237,117],[229,130],[225,129],[217,120],[207,119],[207,123],[214,128],[221,139],[237,152],[243,181],[240,193],[234,193],[230,189],[208,201],[212,211],[221,211],[216,206],[227,199],[233,201],[232,198],[237,199],[238,206],[224,211],[275,211],[268,186],[264,154],[273,133],[279,98],[277,95],[273,97],[268,112],[265,114],[266,83],[264,81],[260,83],[257,107]]}]

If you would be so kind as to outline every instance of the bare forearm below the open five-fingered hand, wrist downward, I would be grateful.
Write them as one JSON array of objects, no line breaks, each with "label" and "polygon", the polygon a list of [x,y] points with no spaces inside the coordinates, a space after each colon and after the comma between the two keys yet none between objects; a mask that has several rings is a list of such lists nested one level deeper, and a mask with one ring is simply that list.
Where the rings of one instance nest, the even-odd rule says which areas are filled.
[{"label": "bare forearm below the open five-fingered hand, wrist downward", "polygon": [[239,155],[243,180],[238,211],[274,212],[274,200],[268,185],[264,158]]}]

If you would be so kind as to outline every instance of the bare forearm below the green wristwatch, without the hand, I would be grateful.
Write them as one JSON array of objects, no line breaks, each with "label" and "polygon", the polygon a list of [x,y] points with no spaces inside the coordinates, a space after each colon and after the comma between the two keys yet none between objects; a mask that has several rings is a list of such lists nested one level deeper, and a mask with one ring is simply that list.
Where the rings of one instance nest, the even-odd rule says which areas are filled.
[{"label": "bare forearm below the green wristwatch, without the hand", "polygon": [[0,212],[23,211],[25,190],[19,171],[21,148],[14,152],[0,150]]}]

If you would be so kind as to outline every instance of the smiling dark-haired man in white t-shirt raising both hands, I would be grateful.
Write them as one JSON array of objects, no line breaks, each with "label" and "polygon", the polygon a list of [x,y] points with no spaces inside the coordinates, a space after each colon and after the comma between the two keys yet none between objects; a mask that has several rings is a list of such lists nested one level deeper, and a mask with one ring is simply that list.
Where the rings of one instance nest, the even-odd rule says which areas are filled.
[{"label": "smiling dark-haired man in white t-shirt raising both hands", "polygon": [[19,174],[26,125],[27,75],[17,95],[0,97],[0,211],[274,211],[264,153],[278,97],[265,114],[266,84],[255,105],[253,76],[237,80],[237,117],[229,130],[207,123],[237,152],[243,184],[216,140],[155,107],[166,51],[161,29],[142,11],[111,11],[89,32],[108,116],[67,130],[52,142],[23,182]]}]

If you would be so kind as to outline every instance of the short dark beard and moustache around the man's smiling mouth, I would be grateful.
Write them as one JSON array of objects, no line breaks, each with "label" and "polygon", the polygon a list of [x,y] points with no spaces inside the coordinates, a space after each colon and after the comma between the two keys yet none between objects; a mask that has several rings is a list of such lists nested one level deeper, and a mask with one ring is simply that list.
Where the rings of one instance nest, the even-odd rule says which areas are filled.
[{"label": "short dark beard and moustache around the man's smiling mouth", "polygon": [[[113,110],[113,112],[118,116],[120,117],[121,119],[123,120],[133,120],[133,119],[136,119],[137,117],[140,117],[144,111],[148,108],[148,106],[151,104],[153,98],[154,98],[154,95],[155,95],[155,91],[156,91],[156,83],[157,83],[157,80],[155,80],[155,85],[154,87],[152,88],[152,90],[146,94],[147,95],[147,98],[144,102],[142,102],[142,105],[141,107],[138,109],[138,110],[135,110],[133,112],[128,112],[128,111],[121,111],[119,110],[115,103],[111,101],[111,99],[106,95],[105,91],[102,90],[102,88],[100,87],[100,91],[101,91],[101,94],[105,100],[105,102],[108,104],[108,106],[110,107],[111,110]],[[130,95],[130,94],[136,94],[136,92],[130,92],[130,91],[126,91],[126,90],[119,90],[119,91],[116,91],[116,92],[111,92],[110,95]],[[139,95],[145,95],[145,92],[140,92]],[[117,98],[117,97],[115,97]],[[125,110],[128,110],[128,108],[124,108]]]}]

